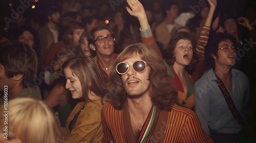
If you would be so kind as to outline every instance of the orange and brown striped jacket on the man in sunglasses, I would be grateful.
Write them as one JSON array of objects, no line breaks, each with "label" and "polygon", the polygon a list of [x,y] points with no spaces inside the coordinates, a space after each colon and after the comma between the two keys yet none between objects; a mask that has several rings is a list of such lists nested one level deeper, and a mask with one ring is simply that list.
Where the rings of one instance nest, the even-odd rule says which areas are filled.
[{"label": "orange and brown striped jacket on the man in sunglasses", "polygon": [[196,113],[176,104],[170,111],[160,110],[156,106],[153,123],[146,124],[150,118],[148,115],[142,127],[140,136],[148,126],[152,126],[144,140],[135,139],[127,106],[116,110],[107,103],[102,108],[101,117],[104,142],[213,142],[203,131]]}]

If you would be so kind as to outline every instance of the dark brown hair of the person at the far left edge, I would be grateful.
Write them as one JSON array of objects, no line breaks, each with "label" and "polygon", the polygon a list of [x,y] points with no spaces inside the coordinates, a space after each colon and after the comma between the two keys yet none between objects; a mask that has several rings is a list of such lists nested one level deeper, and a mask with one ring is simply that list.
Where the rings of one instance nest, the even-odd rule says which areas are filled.
[{"label": "dark brown hair of the person at the far left edge", "polygon": [[37,70],[35,51],[28,44],[13,40],[0,43],[0,64],[5,68],[7,78],[23,75],[23,88],[34,86]]}]

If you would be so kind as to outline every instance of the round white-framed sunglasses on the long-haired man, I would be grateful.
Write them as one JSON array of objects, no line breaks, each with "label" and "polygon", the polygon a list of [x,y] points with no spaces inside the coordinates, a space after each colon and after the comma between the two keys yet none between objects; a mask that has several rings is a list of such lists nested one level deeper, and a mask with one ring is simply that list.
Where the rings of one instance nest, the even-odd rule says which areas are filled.
[{"label": "round white-framed sunglasses on the long-haired man", "polygon": [[136,71],[137,73],[142,73],[143,71],[146,70],[146,62],[142,61],[142,60],[138,60],[133,62],[133,64],[129,64],[126,62],[120,62],[116,65],[116,71],[118,74],[123,75],[125,73],[127,73],[127,71],[130,68],[130,65],[132,65],[133,70]]}]

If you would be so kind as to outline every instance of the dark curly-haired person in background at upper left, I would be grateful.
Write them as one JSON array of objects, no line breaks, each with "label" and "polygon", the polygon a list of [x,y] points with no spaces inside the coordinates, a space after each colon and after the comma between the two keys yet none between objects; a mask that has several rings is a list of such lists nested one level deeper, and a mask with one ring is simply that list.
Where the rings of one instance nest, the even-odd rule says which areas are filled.
[{"label": "dark curly-haired person in background at upper left", "polygon": [[36,55],[40,54],[40,40],[38,32],[31,26],[22,26],[18,28],[13,37],[14,40],[18,40],[31,46]]}]

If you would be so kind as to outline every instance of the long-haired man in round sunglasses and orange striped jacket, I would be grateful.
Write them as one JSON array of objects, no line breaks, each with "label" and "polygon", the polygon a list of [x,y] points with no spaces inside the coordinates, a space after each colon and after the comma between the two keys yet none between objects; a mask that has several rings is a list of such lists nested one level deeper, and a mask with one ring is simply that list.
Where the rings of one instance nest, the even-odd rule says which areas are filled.
[{"label": "long-haired man in round sunglasses and orange striped jacket", "polygon": [[113,66],[103,142],[213,142],[196,113],[178,106],[167,67],[151,46],[127,46]]}]

